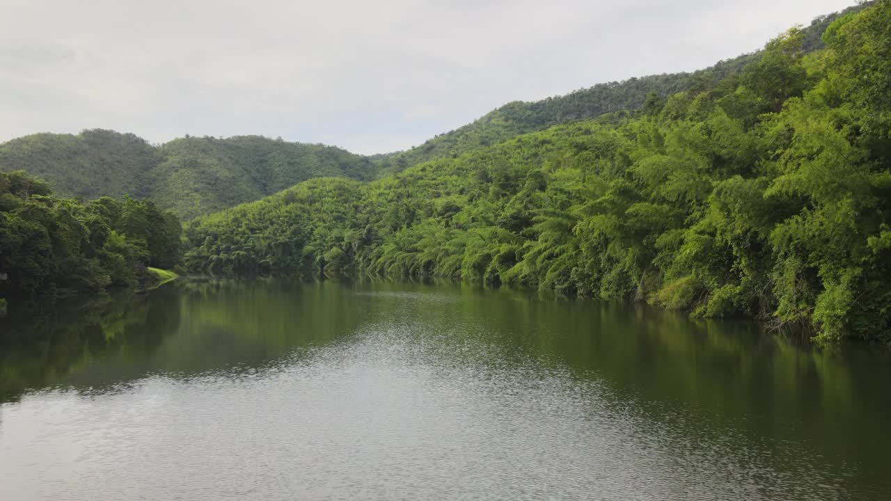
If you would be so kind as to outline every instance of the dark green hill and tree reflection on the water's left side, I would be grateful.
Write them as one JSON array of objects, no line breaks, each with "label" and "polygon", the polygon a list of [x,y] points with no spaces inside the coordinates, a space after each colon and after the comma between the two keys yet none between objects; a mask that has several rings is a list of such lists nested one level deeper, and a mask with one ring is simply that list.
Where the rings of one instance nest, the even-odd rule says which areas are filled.
[{"label": "dark green hill and tree reflection on the water's left side", "polygon": [[52,386],[96,389],[148,374],[248,370],[352,333],[364,316],[336,283],[176,283],[143,296],[35,305],[6,318],[0,401]]}]

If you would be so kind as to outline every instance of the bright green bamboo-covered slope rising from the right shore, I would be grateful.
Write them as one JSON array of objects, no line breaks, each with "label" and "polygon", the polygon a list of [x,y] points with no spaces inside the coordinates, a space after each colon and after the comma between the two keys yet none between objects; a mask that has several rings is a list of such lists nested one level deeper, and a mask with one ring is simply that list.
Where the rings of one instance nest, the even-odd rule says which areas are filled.
[{"label": "bright green bamboo-covered slope rising from the right shore", "polygon": [[[824,23],[825,24],[825,23]],[[891,340],[891,2],[713,86],[197,218],[213,273],[447,277]]]}]

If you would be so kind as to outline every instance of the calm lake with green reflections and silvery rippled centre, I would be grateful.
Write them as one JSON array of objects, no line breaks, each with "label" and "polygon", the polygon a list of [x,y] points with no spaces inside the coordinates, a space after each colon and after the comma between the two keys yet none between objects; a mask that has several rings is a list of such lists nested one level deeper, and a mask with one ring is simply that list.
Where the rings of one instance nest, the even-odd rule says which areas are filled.
[{"label": "calm lake with green reflections and silvery rippled centre", "polygon": [[16,308],[8,501],[891,498],[887,349],[466,285]]}]

